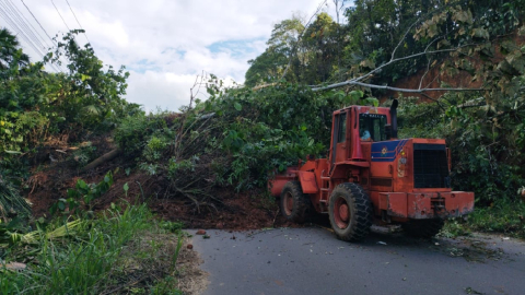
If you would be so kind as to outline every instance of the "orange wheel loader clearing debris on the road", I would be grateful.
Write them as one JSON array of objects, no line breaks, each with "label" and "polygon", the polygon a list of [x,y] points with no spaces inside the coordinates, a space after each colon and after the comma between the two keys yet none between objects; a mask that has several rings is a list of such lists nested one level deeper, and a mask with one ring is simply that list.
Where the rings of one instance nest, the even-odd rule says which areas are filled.
[{"label": "orange wheel loader clearing debris on the road", "polygon": [[397,139],[397,105],[334,111],[328,158],[307,156],[269,180],[282,214],[328,213],[338,238],[355,241],[373,223],[432,237],[445,219],[472,212],[474,192],[452,191],[443,139]]}]

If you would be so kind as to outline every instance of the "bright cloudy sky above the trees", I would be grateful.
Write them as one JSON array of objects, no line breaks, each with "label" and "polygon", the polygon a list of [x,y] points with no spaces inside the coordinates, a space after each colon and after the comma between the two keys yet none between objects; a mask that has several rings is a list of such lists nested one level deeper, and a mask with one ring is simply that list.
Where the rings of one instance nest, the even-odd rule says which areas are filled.
[{"label": "bright cloudy sky above the trees", "polygon": [[[43,46],[52,44],[47,35],[82,27],[86,34],[77,38],[80,44],[89,40],[104,64],[124,64],[129,71],[128,102],[147,111],[177,110],[189,104],[190,87],[201,73],[242,84],[247,61],[265,50],[273,25],[294,13],[310,19],[322,2],[0,0],[0,26],[16,33],[9,16],[25,19],[26,32]],[[334,2],[326,1],[323,10],[335,15]],[[30,42],[19,38],[33,60],[42,59]]]}]

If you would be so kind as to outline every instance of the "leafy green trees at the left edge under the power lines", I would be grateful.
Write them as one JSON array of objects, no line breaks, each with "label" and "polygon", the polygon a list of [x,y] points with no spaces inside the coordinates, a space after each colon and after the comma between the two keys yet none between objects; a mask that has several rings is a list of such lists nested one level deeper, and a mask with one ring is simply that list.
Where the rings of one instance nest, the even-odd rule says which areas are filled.
[{"label": "leafy green trees at the left edge under the power lines", "polygon": [[[138,105],[121,98],[128,73],[110,66],[104,69],[90,45],[77,45],[79,33],[66,34],[55,52],[31,63],[16,37],[0,30],[0,170],[10,179],[27,176],[27,160],[49,137],[74,133],[81,138],[140,113]],[[45,63],[60,63],[62,56],[68,73],[45,71]],[[74,155],[80,164],[92,156],[90,148]]]}]

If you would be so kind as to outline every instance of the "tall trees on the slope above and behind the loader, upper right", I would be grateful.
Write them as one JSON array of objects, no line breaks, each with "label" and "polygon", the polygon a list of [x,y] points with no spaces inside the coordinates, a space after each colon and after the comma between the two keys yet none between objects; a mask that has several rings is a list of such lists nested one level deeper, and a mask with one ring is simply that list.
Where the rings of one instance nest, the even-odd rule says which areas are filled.
[{"label": "tall trees on the slope above and behind the loader, upper right", "polygon": [[[401,134],[447,139],[456,186],[483,200],[512,196],[525,185],[524,7],[523,0],[357,0],[342,24],[319,13],[302,23],[303,32],[284,25],[292,20],[276,25],[278,36],[284,30],[294,37],[279,43],[279,56],[268,43],[245,84],[260,88],[284,79],[320,93],[339,90],[331,95],[398,96]],[[402,86],[409,78],[415,83]],[[407,97],[416,94],[423,101]]]}]

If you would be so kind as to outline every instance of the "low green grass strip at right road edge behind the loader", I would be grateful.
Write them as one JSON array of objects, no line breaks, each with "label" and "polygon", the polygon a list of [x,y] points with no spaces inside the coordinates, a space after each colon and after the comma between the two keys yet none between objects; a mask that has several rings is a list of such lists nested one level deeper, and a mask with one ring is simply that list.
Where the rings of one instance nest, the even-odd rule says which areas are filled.
[{"label": "low green grass strip at right road edge behind the loader", "polygon": [[525,202],[521,200],[500,199],[491,206],[476,208],[463,219],[450,220],[441,231],[445,237],[469,235],[472,231],[501,233],[525,239]]}]

